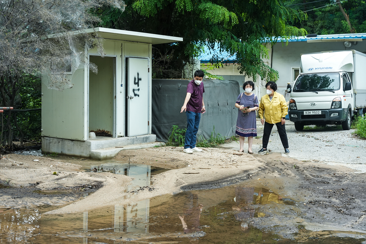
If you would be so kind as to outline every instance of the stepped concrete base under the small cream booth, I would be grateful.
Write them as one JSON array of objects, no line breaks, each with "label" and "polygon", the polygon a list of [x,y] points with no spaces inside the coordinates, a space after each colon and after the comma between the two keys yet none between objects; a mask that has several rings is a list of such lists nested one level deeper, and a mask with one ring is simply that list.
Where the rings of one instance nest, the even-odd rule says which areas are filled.
[{"label": "stepped concrete base under the small cream booth", "polygon": [[70,140],[55,137],[42,137],[42,153],[75,156],[92,159],[114,158],[120,151],[140,149],[160,145],[153,134],[133,137],[104,137],[87,141]]}]

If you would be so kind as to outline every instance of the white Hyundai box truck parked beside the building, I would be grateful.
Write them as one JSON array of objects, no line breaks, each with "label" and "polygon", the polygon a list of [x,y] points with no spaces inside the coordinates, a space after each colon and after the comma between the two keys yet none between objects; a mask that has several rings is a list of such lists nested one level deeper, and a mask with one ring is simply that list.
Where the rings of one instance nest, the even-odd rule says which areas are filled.
[{"label": "white Hyundai box truck parked beside the building", "polygon": [[355,50],[302,54],[300,74],[287,92],[296,130],[304,125],[349,130],[352,117],[366,112],[366,55]]}]

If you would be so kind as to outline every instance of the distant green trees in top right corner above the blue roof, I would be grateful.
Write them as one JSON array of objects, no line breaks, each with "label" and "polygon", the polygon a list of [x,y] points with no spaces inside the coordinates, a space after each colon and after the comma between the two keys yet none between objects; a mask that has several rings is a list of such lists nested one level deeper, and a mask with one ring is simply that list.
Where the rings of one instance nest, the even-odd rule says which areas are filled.
[{"label": "distant green trees in top right corner above the blue roof", "polygon": [[304,28],[308,33],[326,35],[366,32],[366,1],[341,1],[341,6],[350,20],[351,30],[339,5],[334,0],[290,0],[285,1],[284,4],[306,11],[308,16],[306,20],[292,24],[298,28]]}]

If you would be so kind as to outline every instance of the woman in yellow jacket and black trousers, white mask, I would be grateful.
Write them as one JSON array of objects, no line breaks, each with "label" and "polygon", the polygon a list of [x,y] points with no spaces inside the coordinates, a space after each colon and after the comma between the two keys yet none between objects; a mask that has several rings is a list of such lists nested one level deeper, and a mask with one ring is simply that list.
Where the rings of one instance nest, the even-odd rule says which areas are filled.
[{"label": "woman in yellow jacket and black trousers, white mask", "polygon": [[[288,114],[285,97],[276,92],[277,84],[273,81],[267,82],[266,89],[267,94],[262,96],[258,110],[262,125],[264,125],[263,145],[262,149],[259,150],[258,153],[263,154],[267,152],[269,136],[273,125],[276,124],[283,148],[285,149],[285,154],[289,154],[290,151],[288,150],[288,140],[285,129],[285,116]],[[266,121],[264,121],[263,116]]]}]

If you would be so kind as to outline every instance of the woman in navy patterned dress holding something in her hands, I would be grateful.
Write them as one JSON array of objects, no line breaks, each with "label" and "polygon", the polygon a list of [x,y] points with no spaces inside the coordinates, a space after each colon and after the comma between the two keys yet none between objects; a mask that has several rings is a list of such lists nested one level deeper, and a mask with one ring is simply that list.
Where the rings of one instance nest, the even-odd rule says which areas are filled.
[{"label": "woman in navy patterned dress holding something in her hands", "polygon": [[[253,154],[253,136],[257,136],[257,121],[255,118],[255,110],[258,109],[258,97],[252,92],[254,90],[253,81],[247,81],[243,84],[245,92],[240,93],[236,99],[235,107],[239,108],[238,120],[236,121],[235,133],[239,135],[239,152],[244,151],[244,139],[248,137],[248,153]],[[243,109],[249,107],[243,113]]]}]

